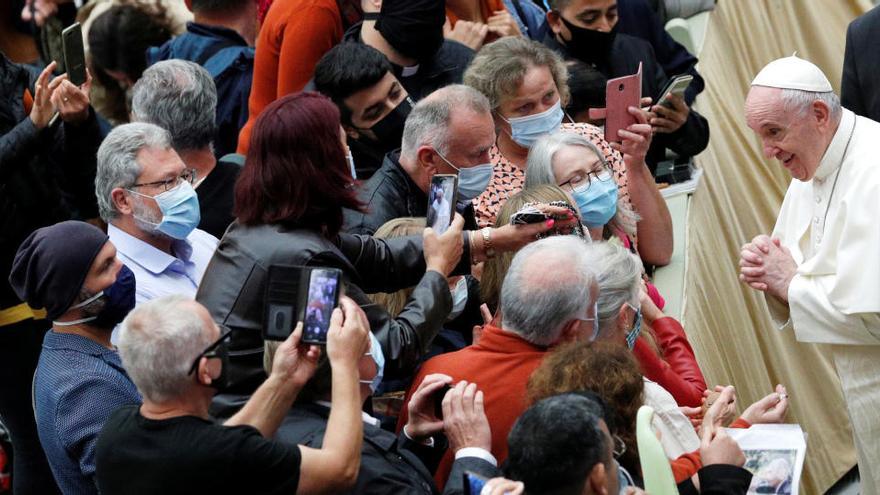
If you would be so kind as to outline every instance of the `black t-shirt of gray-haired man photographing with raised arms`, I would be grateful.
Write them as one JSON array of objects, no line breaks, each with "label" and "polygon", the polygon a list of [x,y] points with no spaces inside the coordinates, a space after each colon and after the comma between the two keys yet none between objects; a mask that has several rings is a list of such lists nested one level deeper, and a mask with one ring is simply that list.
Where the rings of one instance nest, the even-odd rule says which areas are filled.
[{"label": "black t-shirt of gray-haired man photographing with raised arms", "polygon": [[300,460],[298,446],[250,426],[195,416],[152,420],[126,406],[98,436],[95,476],[102,495],[293,495]]}]

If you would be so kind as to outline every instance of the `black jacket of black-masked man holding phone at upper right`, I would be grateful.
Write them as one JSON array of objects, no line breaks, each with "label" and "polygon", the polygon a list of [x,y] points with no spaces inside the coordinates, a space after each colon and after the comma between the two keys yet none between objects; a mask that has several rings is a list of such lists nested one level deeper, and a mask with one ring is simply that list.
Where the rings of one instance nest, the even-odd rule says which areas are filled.
[{"label": "black jacket of black-masked man holding phone at upper right", "polygon": [[[564,45],[556,40],[553,32],[544,38],[544,44],[555,50],[563,57],[574,58]],[[663,71],[654,49],[651,45],[640,38],[619,33],[611,46],[611,55],[605,64],[595,65],[596,70],[606,78],[627,76],[635,74],[642,63],[642,96],[650,96],[655,102],[660,92],[666,87],[668,77]],[[672,134],[654,134],[651,140],[651,148],[645,157],[645,162],[653,172],[657,164],[666,159],[666,150],[670,149],[682,157],[694,156],[709,144],[709,122],[705,117],[690,109],[687,122]]]}]

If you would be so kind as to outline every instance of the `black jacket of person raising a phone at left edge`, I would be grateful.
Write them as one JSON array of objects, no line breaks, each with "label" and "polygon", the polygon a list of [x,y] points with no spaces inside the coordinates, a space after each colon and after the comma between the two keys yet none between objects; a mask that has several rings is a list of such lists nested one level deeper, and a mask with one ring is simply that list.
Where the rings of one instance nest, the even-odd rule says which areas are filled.
[{"label": "black jacket of person raising a phone at left edge", "polygon": [[[60,122],[37,130],[25,111],[25,90],[36,75],[0,53],[0,272],[34,230],[98,216],[95,168],[101,132],[94,111],[80,124]],[[21,301],[0,283],[0,309]]]}]

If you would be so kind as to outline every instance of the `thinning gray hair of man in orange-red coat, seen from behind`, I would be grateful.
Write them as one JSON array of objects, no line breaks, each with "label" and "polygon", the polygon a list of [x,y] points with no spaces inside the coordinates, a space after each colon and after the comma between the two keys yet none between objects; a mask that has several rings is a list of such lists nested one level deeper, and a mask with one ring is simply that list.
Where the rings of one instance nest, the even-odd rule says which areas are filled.
[{"label": "thinning gray hair of man in orange-red coat, seen from behind", "polygon": [[576,236],[553,236],[522,248],[501,285],[504,329],[538,346],[559,341],[564,327],[587,317],[595,301],[595,275],[588,244]]}]

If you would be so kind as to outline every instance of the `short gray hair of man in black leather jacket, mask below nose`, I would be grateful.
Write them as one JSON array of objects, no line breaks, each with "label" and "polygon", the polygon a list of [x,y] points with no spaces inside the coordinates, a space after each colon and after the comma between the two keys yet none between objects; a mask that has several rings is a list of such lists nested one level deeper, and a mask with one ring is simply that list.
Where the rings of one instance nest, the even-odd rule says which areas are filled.
[{"label": "short gray hair of man in black leather jacket, mask below nose", "polygon": [[463,84],[451,84],[419,101],[403,127],[400,155],[415,160],[420,146],[428,145],[443,153],[449,151],[449,124],[454,109],[489,114],[489,100]]}]

